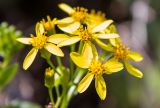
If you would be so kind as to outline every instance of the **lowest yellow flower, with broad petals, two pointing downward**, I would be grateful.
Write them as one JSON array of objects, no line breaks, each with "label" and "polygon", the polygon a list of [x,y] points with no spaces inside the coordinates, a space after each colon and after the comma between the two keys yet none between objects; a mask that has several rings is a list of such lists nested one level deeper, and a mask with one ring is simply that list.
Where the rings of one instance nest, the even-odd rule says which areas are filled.
[{"label": "lowest yellow flower, with broad petals, two pointing downward", "polygon": [[106,98],[107,88],[102,75],[111,74],[122,70],[123,64],[114,60],[108,60],[105,63],[102,63],[98,59],[98,56],[94,58],[93,56],[88,57],[88,53],[92,52],[91,47],[87,44],[85,44],[85,47],[87,48],[83,49],[84,51],[81,55],[76,52],[70,54],[73,62],[77,66],[88,69],[88,73],[78,84],[77,90],[79,93],[83,93],[89,87],[93,78],[95,78],[95,88],[97,94],[102,100],[104,100]]}]

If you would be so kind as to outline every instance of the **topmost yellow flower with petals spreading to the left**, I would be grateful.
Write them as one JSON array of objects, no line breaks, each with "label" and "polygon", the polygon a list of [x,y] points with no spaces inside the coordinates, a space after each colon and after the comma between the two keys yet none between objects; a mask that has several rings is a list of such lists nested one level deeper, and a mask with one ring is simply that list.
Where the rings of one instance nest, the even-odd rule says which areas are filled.
[{"label": "topmost yellow flower with petals spreading to the left", "polygon": [[59,7],[64,12],[69,14],[69,17],[57,21],[58,27],[63,31],[65,31],[66,29],[70,29],[69,32],[72,33],[73,31],[77,30],[87,18],[88,10],[83,7],[72,8],[65,3],[59,4]]}]

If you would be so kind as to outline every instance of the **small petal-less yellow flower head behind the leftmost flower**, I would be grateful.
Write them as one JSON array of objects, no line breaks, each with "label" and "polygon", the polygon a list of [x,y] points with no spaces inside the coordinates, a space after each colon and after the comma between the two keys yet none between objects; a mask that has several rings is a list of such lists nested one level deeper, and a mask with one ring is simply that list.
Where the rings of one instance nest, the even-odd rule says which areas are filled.
[{"label": "small petal-less yellow flower head behind the leftmost flower", "polygon": [[54,28],[56,21],[56,19],[51,20],[50,16],[47,16],[47,21],[45,21],[45,19],[42,19],[41,23],[43,24],[45,30],[49,31]]}]

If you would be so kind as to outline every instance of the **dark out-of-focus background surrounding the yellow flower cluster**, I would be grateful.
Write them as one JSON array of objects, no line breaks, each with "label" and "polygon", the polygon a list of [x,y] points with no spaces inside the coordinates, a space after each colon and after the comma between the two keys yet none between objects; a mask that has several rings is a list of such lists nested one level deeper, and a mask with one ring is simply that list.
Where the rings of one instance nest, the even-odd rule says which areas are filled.
[{"label": "dark out-of-focus background surrounding the yellow flower cluster", "polygon": [[[11,35],[5,34],[6,39],[7,36],[29,36],[34,33],[36,22],[47,15],[52,18],[66,16],[57,7],[61,2],[106,13],[107,18],[116,22],[124,43],[144,56],[141,63],[135,64],[144,73],[142,79],[134,78],[125,70],[108,75],[108,96],[105,101],[98,98],[93,83],[85,93],[72,99],[69,108],[160,108],[160,0],[0,0],[1,26],[4,26],[6,23],[2,22],[6,21],[16,28]],[[2,36],[4,37],[1,28],[3,27],[0,27],[0,45],[3,42]],[[9,25],[6,25],[6,28],[13,29]],[[17,30],[23,33],[16,34]],[[25,46],[22,49],[23,46],[20,47],[20,44],[10,44],[15,46],[11,47],[14,50],[8,54],[10,61],[7,62],[11,66],[19,63],[19,67],[13,66],[17,68],[12,72],[15,74],[9,77],[10,82],[0,91],[0,106],[31,108],[27,105],[34,106],[33,103],[36,103],[33,108],[44,107],[49,102],[47,89],[43,85],[46,62],[38,56],[26,72],[22,69],[22,62],[30,47]],[[9,45],[3,45],[8,46],[5,50],[10,51]],[[64,50],[68,52],[67,49]],[[0,49],[0,64],[5,61],[4,55],[7,52],[3,54],[4,52]],[[3,69],[0,69],[1,75]],[[3,79],[7,79],[9,75],[10,73],[6,72]],[[2,81],[0,84],[1,87]]]}]

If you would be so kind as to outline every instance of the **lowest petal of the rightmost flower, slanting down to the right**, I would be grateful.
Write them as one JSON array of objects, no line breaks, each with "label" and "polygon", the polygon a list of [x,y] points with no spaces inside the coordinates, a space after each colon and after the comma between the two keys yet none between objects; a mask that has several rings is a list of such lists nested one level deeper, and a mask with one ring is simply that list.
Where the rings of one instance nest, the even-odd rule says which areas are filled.
[{"label": "lowest petal of the rightmost flower, slanting down to the right", "polygon": [[124,63],[125,63],[125,66],[126,66],[127,71],[128,71],[131,75],[133,75],[133,76],[135,76],[135,77],[138,77],[138,78],[142,78],[142,77],[143,77],[143,73],[142,73],[140,70],[138,70],[137,68],[133,67],[133,66],[132,66],[129,62],[127,62],[127,61],[125,61]]}]

